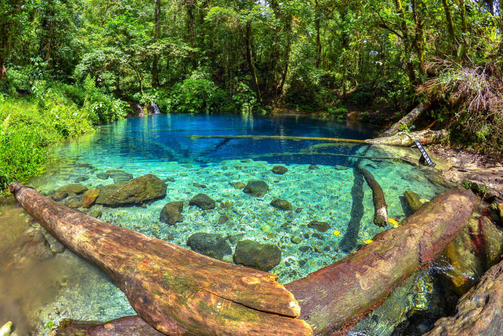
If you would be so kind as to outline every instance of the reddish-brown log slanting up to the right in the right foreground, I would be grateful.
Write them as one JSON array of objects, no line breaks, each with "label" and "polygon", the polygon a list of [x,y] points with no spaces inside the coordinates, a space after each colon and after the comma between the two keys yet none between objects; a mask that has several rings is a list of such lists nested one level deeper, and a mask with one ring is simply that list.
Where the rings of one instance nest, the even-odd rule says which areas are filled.
[{"label": "reddish-brown log slanting up to the right in the right foreground", "polygon": [[346,259],[286,285],[302,307],[300,317],[315,334],[349,327],[434,260],[468,225],[476,203],[470,190],[445,192]]}]

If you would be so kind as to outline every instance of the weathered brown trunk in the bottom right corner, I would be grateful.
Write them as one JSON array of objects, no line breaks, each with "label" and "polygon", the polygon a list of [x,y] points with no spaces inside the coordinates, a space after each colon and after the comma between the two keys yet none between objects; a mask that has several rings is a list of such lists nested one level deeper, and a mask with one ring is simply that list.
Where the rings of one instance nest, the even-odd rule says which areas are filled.
[{"label": "weathered brown trunk in the bottom right corner", "polygon": [[439,319],[423,336],[494,336],[503,334],[503,262],[491,267],[463,295],[453,316]]}]

